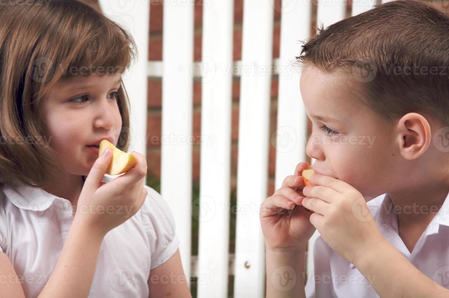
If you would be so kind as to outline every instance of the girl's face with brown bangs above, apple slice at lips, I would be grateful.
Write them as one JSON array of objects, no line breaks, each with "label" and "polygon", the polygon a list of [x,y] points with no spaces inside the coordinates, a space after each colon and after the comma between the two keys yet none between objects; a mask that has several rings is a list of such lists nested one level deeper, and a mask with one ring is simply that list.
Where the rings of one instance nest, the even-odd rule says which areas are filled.
[{"label": "girl's face with brown bangs above, apple slice at lips", "polygon": [[45,134],[64,170],[88,175],[98,153],[87,145],[111,138],[116,145],[122,118],[116,99],[119,74],[76,76],[58,82],[43,103]]}]

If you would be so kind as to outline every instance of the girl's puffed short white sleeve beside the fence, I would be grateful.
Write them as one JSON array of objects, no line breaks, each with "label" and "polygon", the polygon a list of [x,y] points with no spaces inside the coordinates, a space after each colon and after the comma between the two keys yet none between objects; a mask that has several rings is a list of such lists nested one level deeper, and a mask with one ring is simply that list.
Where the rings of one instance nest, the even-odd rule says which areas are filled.
[{"label": "girl's puffed short white sleeve beside the fence", "polygon": [[150,241],[151,267],[154,269],[165,263],[179,247],[175,233],[175,220],[172,211],[163,197],[153,188],[148,190],[142,206],[142,224]]}]

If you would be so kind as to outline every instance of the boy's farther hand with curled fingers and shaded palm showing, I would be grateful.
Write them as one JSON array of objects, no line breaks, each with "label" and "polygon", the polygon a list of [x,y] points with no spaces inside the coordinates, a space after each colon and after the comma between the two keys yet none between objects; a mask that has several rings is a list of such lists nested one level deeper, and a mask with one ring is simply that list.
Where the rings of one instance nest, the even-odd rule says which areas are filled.
[{"label": "boy's farther hand with curled fingers and shaded palm showing", "polygon": [[316,230],[309,220],[312,212],[301,206],[304,198],[301,173],[307,168],[308,162],[299,163],[295,175],[287,176],[282,187],[260,206],[260,224],[267,249],[304,250]]}]

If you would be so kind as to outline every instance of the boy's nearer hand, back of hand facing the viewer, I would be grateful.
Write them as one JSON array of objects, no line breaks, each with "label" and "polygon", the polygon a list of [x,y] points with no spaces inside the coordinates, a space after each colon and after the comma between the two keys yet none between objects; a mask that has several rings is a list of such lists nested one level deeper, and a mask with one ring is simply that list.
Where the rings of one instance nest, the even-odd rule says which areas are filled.
[{"label": "boy's nearer hand, back of hand facing the viewer", "polygon": [[326,175],[312,175],[316,186],[306,186],[302,204],[315,213],[310,222],[321,237],[348,262],[355,264],[365,252],[384,238],[365,198],[344,181]]}]

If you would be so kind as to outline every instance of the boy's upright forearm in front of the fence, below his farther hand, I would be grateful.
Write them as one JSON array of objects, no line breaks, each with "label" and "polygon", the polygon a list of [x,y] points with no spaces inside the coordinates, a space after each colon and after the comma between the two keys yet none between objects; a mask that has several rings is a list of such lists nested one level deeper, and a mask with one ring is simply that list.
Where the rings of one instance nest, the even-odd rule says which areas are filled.
[{"label": "boy's upright forearm in front of the fence, below his farther hand", "polygon": [[267,298],[305,298],[306,249],[266,251]]}]

